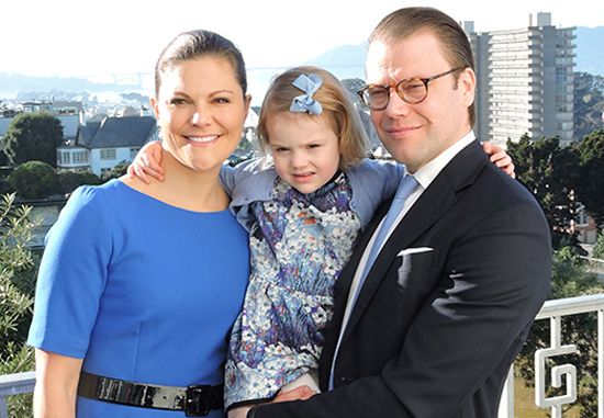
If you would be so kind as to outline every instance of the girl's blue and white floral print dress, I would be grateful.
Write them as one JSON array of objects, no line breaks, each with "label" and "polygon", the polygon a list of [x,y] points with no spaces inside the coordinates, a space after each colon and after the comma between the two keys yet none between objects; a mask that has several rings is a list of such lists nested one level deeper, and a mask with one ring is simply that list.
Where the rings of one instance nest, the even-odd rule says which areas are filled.
[{"label": "girl's blue and white floral print dress", "polygon": [[272,196],[251,205],[251,273],[231,336],[226,407],[270,398],[318,366],[334,284],[360,229],[344,173],[309,194],[277,179]]}]

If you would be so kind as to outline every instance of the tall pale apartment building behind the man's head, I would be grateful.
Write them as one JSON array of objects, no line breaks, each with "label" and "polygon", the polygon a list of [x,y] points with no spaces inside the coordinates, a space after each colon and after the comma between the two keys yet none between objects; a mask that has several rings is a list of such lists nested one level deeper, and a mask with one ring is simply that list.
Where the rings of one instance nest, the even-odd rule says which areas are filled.
[{"label": "tall pale apartment building behind the man's head", "polygon": [[574,27],[551,25],[551,13],[537,13],[536,25],[480,32],[463,22],[474,50],[479,138],[505,145],[522,135],[573,139]]}]

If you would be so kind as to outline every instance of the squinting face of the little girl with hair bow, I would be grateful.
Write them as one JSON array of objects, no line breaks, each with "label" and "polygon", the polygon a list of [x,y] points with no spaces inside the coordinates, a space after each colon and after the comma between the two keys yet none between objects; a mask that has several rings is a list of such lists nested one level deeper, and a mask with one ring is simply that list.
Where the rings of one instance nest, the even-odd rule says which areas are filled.
[{"label": "squinting face of the little girl with hair bow", "polygon": [[277,173],[299,192],[316,191],[337,172],[338,137],[325,115],[277,113],[267,131]]}]

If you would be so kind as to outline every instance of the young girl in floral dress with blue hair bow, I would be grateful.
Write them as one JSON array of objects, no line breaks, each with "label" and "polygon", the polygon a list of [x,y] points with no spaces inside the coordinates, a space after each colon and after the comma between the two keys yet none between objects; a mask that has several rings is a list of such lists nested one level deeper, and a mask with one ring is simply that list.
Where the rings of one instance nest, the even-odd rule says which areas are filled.
[{"label": "young girl in floral dress with blue hair bow", "polygon": [[[250,235],[251,273],[225,370],[225,407],[237,416],[247,410],[237,407],[271,399],[283,387],[318,391],[312,375],[334,283],[359,230],[405,173],[401,165],[365,158],[368,140],[348,92],[316,67],[275,79],[258,137],[271,160],[221,172],[231,208]],[[160,176],[154,160],[159,149],[143,148],[131,173]],[[492,154],[513,171],[505,152]]]}]

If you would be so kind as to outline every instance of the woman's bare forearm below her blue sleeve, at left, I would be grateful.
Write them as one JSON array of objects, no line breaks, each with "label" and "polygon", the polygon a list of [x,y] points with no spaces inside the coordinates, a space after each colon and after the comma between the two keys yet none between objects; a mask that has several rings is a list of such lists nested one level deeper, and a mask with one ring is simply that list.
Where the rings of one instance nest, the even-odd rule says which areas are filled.
[{"label": "woman's bare forearm below her blue sleeve, at left", "polygon": [[35,418],[75,418],[82,360],[35,350]]}]

